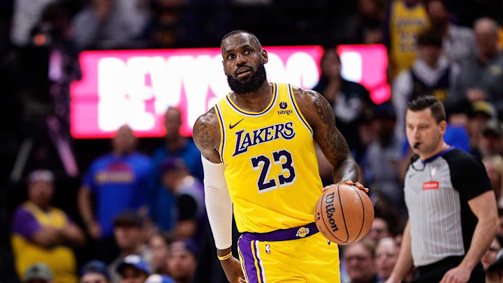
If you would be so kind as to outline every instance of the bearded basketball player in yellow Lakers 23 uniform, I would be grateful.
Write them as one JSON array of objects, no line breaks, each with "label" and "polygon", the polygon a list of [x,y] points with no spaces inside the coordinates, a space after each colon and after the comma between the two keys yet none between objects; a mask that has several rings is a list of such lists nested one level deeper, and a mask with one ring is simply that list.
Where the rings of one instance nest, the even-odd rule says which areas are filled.
[{"label": "bearded basketball player in yellow Lakers 23 uniform", "polygon": [[[340,282],[337,245],[314,224],[322,185],[314,141],[333,166],[333,180],[358,183],[358,166],[335,127],[326,99],[269,83],[268,53],[247,31],[221,41],[233,90],[194,124],[202,152],[205,197],[217,256],[230,282]],[[231,254],[231,220],[242,237]],[[290,281],[289,281],[290,282]]]}]

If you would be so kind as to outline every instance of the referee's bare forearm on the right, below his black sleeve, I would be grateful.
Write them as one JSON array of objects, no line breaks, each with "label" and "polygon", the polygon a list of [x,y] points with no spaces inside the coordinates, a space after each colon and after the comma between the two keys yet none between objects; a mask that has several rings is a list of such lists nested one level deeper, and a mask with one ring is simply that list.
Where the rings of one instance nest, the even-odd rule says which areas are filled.
[{"label": "referee's bare forearm on the right, below his black sleeve", "polygon": [[498,226],[496,197],[493,190],[468,201],[469,208],[479,220],[465,258],[460,265],[449,270],[440,283],[467,282],[472,270],[495,238]]}]

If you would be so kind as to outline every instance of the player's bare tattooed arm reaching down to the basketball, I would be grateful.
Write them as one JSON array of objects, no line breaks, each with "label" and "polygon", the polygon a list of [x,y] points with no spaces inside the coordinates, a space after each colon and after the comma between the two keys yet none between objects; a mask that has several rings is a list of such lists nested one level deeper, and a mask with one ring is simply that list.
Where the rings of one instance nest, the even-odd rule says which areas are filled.
[{"label": "player's bare tattooed arm reaching down to the basketball", "polygon": [[314,140],[332,166],[334,182],[358,182],[361,178],[358,164],[351,156],[346,140],[335,126],[335,115],[330,103],[312,90],[294,88],[293,93],[300,112],[314,131]]}]

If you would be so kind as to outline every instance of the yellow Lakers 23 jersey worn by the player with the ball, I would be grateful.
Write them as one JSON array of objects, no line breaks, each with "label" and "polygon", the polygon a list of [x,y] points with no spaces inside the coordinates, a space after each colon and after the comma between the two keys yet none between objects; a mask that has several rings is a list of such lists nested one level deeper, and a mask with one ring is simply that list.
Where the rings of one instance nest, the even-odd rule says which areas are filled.
[{"label": "yellow Lakers 23 jersey worn by the player with the ball", "polygon": [[272,100],[260,113],[240,109],[229,95],[214,107],[240,232],[265,233],[314,222],[321,196],[312,129],[291,86],[272,85]]}]

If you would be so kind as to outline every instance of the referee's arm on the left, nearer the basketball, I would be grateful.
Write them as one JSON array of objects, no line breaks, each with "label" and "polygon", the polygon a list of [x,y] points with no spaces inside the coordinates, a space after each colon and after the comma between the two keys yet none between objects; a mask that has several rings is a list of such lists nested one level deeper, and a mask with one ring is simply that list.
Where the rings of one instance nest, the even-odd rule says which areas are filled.
[{"label": "referee's arm on the left, nearer the basketball", "polygon": [[410,220],[407,220],[407,225],[405,226],[404,233],[402,236],[402,245],[400,245],[400,254],[398,254],[398,260],[395,263],[393,272],[391,273],[386,283],[400,283],[402,279],[409,273],[412,268],[412,252],[411,252],[411,237],[410,237]]}]

